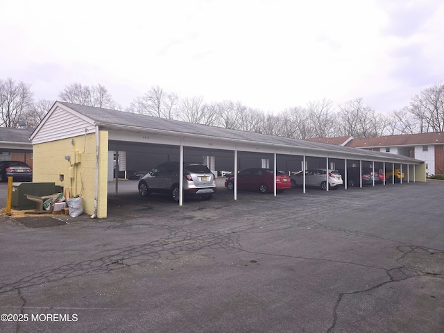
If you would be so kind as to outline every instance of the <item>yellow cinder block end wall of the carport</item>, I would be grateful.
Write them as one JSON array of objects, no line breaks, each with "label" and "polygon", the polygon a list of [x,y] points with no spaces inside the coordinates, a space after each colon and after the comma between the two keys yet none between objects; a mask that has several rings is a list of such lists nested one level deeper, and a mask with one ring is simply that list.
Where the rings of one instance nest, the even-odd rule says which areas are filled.
[{"label": "yellow cinder block end wall of the carport", "polygon": [[[76,161],[76,153],[80,155],[80,162]],[[66,155],[70,156],[69,161],[65,159]],[[83,198],[83,210],[85,214],[89,215],[94,214],[95,176],[95,133],[33,145],[33,182],[55,182],[56,185],[60,185],[64,189],[68,188],[71,197],[81,196]],[[99,131],[99,188],[97,195],[97,217],[99,218],[107,216],[107,196],[108,131],[101,130]]]}]

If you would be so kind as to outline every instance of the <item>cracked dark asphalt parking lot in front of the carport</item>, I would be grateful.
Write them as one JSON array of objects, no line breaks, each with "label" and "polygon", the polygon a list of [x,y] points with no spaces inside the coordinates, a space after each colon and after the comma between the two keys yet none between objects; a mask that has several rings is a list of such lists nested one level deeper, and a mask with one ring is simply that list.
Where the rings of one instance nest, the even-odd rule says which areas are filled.
[{"label": "cracked dark asphalt parking lot in front of the carport", "polygon": [[1,217],[0,332],[444,332],[444,182],[238,198]]}]

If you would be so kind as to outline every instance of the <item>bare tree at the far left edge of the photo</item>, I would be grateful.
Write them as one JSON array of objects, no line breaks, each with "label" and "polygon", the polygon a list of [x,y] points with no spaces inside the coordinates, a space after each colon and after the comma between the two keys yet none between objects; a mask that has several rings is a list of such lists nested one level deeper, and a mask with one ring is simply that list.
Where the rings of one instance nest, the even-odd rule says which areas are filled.
[{"label": "bare tree at the far left edge of the photo", "polygon": [[24,112],[33,103],[31,86],[12,78],[0,80],[0,112],[3,127],[17,127]]}]

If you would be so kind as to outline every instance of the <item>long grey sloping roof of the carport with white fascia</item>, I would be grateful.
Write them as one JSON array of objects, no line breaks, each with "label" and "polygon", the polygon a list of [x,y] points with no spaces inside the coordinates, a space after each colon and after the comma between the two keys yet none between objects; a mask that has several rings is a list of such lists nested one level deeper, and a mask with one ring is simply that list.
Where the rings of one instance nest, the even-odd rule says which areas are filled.
[{"label": "long grey sloping roof of the carport with white fascia", "polygon": [[[66,102],[56,102],[48,114],[46,114],[45,119],[49,118],[51,113],[58,108],[62,108],[65,112],[74,114],[75,116],[83,119],[83,121],[86,121],[86,123],[91,126],[89,128],[91,132],[94,130],[95,126],[99,126],[99,129],[101,130],[109,130],[110,140],[131,142],[136,141],[137,139],[135,139],[135,137],[132,135],[119,135],[118,133],[146,133],[146,135],[153,135],[157,138],[156,142],[149,142],[148,140],[148,142],[146,142],[147,144],[162,144],[162,142],[164,144],[173,144],[171,137],[175,137],[176,139],[180,139],[180,141],[176,140],[175,142],[182,143],[184,146],[210,149],[222,148],[232,151],[239,150],[288,155],[307,155],[404,164],[423,163],[423,161],[416,160],[411,157],[382,153],[379,151],[370,151],[360,148],[291,139],[287,137],[250,133],[241,130],[232,130],[197,123],[187,123],[183,121],[150,117],[142,114],[118,110],[94,108]],[[36,135],[38,136],[45,119],[31,135],[31,141],[33,141]],[[86,129],[87,128],[81,128],[81,130]],[[69,131],[65,130],[65,133],[69,133]],[[60,135],[63,134],[60,133]],[[58,135],[59,139],[60,135]],[[47,141],[51,141],[52,139],[55,139],[55,137],[47,137]],[[45,142],[46,140],[42,139],[41,137],[37,141]]]}]

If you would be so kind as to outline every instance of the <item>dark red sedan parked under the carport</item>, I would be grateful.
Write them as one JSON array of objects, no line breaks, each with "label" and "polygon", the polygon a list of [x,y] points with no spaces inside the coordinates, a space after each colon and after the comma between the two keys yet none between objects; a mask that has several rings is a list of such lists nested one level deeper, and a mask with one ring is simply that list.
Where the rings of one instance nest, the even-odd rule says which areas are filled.
[{"label": "dark red sedan parked under the carport", "polygon": [[[252,168],[245,169],[237,174],[237,189],[253,189],[266,193],[273,191],[274,171],[271,169]],[[234,176],[225,180],[225,187],[234,189]],[[276,173],[276,190],[291,189],[290,177],[282,172]]]}]

